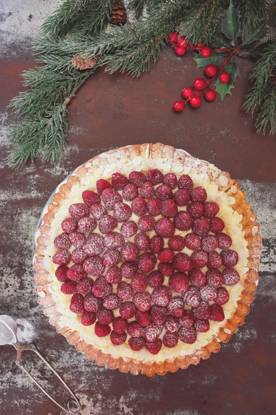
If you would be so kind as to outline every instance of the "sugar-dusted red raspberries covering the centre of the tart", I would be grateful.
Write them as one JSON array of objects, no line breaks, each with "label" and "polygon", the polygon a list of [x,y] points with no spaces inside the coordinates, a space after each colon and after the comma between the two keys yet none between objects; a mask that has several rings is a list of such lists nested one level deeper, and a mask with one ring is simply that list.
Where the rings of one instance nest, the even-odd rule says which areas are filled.
[{"label": "sugar-dusted red raspberries covering the centre of the tart", "polygon": [[81,324],[156,354],[162,344],[192,344],[210,320],[224,320],[239,258],[204,187],[151,169],[100,179],[82,199],[70,205],[52,257]]}]

